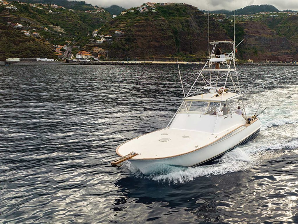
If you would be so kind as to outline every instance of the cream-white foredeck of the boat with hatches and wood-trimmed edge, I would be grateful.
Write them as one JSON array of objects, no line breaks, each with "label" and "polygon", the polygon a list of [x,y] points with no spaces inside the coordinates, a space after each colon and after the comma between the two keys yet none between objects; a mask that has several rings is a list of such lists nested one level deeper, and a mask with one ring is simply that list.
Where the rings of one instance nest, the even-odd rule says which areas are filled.
[{"label": "cream-white foredeck of the boat with hatches and wood-trimmed edge", "polygon": [[134,159],[173,157],[207,146],[238,128],[231,127],[215,135],[183,129],[162,129],[125,142],[116,152],[122,157],[134,151],[138,153]]}]

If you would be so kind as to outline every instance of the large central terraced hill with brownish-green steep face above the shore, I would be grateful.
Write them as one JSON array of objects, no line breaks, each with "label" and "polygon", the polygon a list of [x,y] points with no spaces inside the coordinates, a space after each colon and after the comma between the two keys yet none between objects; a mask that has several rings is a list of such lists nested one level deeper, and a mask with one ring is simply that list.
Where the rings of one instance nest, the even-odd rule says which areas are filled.
[{"label": "large central terraced hill with brownish-green steep face above the shore", "polygon": [[[114,35],[112,44],[102,44],[109,50],[110,57],[206,56],[208,17],[204,13],[188,4],[142,7],[127,10],[99,30],[103,35],[111,35],[115,30],[124,32],[123,36]],[[210,26],[211,39],[229,39],[213,19]]]}]

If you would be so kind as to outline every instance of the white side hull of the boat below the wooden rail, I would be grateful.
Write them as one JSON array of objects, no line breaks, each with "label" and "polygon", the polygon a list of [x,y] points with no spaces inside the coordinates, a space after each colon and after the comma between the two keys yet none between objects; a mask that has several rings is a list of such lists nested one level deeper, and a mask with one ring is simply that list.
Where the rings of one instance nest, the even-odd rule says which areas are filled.
[{"label": "white side hull of the boat below the wooden rail", "polygon": [[143,174],[154,172],[159,169],[161,165],[187,167],[200,165],[209,160],[215,159],[241,143],[244,143],[259,131],[260,121],[257,120],[244,129],[240,127],[239,129],[231,132],[229,135],[218,139],[218,141],[187,154],[162,159],[131,159],[128,161],[133,163]]}]

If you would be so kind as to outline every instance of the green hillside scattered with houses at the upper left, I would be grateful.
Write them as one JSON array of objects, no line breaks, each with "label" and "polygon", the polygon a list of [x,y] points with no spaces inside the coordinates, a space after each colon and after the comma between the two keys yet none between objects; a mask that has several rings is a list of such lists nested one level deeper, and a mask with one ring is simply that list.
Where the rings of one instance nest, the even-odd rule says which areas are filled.
[{"label": "green hillside scattered with houses at the upper left", "polygon": [[[68,1],[61,0],[60,4],[63,2]],[[103,8],[79,3],[74,5],[75,8],[79,8],[80,5],[80,7],[86,6],[85,9],[89,10],[67,10],[54,4],[27,4],[13,1],[11,4],[16,10],[0,6],[0,23],[21,23],[28,30],[38,30],[38,33],[52,44],[88,39],[88,35],[94,29],[98,29],[111,19],[111,14]],[[44,27],[48,30],[45,31]]]}]

